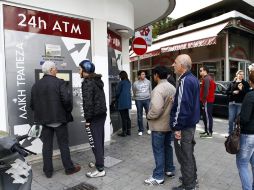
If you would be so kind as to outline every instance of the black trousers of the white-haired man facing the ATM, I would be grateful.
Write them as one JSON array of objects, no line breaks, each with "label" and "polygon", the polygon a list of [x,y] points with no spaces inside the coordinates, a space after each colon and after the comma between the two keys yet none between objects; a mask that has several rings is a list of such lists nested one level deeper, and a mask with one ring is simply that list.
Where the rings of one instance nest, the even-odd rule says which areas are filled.
[{"label": "black trousers of the white-haired man facing the ATM", "polygon": [[70,156],[67,124],[62,124],[59,127],[48,127],[43,125],[41,134],[41,140],[43,142],[43,171],[44,173],[52,173],[54,170],[52,162],[54,133],[56,133],[57,143],[61,152],[62,163],[65,171],[72,171],[74,169],[74,165]]}]

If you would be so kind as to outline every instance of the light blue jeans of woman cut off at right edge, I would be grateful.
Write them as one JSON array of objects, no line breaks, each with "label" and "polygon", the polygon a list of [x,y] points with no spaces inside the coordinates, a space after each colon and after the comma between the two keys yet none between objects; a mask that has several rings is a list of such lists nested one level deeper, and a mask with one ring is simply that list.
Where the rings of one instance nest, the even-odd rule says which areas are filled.
[{"label": "light blue jeans of woman cut off at right edge", "polygon": [[[252,173],[249,171],[251,164]],[[240,151],[236,155],[236,165],[239,171],[243,190],[253,190],[254,176],[254,135],[241,134]]]}]

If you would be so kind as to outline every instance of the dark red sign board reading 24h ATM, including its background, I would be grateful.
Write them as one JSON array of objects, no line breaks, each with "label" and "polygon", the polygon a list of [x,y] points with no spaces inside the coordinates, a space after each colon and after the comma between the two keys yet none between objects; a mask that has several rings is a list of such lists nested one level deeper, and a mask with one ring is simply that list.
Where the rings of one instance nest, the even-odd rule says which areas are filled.
[{"label": "dark red sign board reading 24h ATM, including its background", "polygon": [[9,5],[4,5],[4,29],[91,40],[88,20]]}]

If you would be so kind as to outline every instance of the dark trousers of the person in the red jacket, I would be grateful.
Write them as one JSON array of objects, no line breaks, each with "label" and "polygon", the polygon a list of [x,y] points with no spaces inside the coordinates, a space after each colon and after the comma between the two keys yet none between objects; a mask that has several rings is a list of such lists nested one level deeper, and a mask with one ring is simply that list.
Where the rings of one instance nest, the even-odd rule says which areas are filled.
[{"label": "dark trousers of the person in the red jacket", "polygon": [[213,134],[213,103],[202,105],[202,119],[205,125],[205,132]]}]

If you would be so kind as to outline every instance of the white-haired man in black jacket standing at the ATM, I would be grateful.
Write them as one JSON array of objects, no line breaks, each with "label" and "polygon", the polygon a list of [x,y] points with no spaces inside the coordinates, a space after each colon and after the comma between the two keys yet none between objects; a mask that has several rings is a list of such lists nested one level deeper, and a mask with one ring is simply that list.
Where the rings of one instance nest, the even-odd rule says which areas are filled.
[{"label": "white-haired man in black jacket standing at the ATM", "polygon": [[72,92],[64,80],[56,77],[57,68],[54,62],[45,61],[42,72],[43,78],[32,87],[30,107],[34,111],[34,122],[43,126],[41,134],[43,172],[47,178],[53,175],[52,155],[55,133],[65,174],[74,174],[81,167],[73,164],[69,149],[67,123],[73,121]]}]

